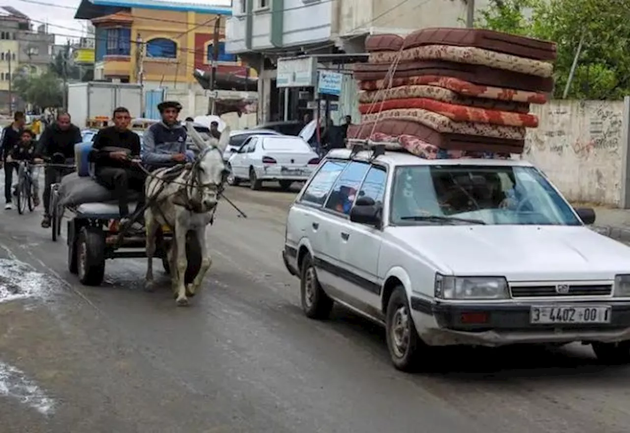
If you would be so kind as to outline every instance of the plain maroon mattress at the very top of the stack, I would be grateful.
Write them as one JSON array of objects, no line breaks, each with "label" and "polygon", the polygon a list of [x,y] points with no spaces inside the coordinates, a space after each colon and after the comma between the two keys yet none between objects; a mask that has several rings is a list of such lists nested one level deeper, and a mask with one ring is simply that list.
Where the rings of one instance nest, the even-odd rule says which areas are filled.
[{"label": "plain maroon mattress at the very top of the stack", "polygon": [[[416,30],[404,38],[404,48],[435,44],[483,48],[535,60],[556,60],[558,57],[556,44],[553,42],[484,29],[425,28]],[[381,46],[384,45],[386,45],[386,40],[382,40]],[[395,44],[392,43],[389,50],[400,49],[394,46]]]}]

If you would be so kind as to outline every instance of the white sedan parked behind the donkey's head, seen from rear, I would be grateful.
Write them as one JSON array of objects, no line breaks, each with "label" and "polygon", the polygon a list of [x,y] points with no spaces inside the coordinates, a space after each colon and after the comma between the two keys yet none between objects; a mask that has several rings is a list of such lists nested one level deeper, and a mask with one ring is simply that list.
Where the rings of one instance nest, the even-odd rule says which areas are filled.
[{"label": "white sedan parked behind the donkey's head, seen from rear", "polygon": [[231,185],[248,180],[251,189],[260,189],[263,181],[277,181],[280,188],[289,189],[292,183],[311,176],[319,157],[299,137],[252,135],[233,151],[227,164],[231,170],[227,182]]}]

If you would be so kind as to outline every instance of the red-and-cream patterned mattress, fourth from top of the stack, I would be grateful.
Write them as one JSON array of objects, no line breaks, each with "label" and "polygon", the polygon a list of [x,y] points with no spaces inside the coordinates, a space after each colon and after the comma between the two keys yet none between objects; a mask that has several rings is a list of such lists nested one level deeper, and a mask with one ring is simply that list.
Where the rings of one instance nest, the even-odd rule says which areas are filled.
[{"label": "red-and-cream patterned mattress, fourth from top of the stack", "polygon": [[[395,79],[394,81],[398,81]],[[405,79],[403,86],[388,88],[384,80],[376,82],[362,82],[360,86],[368,91],[359,94],[359,100],[363,103],[372,101],[375,96],[378,99],[399,99],[399,98],[435,98],[432,93],[454,94],[449,102],[455,102],[454,98],[459,95],[472,98],[498,99],[500,101],[517,101],[528,104],[544,104],[547,96],[544,93],[529,92],[525,90],[503,89],[493,86],[479,86],[472,82],[460,80],[454,77],[421,76],[409,77]],[[392,83],[394,84],[394,83]],[[377,89],[387,89],[386,91],[374,91]],[[435,88],[442,89],[438,91]],[[435,98],[440,99],[440,98]],[[443,101],[445,99],[440,99]]]}]

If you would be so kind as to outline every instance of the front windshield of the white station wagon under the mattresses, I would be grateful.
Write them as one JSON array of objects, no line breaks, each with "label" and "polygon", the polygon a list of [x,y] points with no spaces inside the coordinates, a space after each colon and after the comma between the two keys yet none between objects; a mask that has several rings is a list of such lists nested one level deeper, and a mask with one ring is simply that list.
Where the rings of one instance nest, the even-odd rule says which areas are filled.
[{"label": "front windshield of the white station wagon under the mattresses", "polygon": [[534,167],[403,166],[394,171],[394,225],[581,225]]}]

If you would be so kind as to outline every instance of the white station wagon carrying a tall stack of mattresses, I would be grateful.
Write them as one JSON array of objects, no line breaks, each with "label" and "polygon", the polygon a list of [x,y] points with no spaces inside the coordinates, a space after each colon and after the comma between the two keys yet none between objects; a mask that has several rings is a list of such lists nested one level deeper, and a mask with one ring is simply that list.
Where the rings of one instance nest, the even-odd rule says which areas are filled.
[{"label": "white station wagon carrying a tall stack of mattresses", "polygon": [[287,218],[307,317],[337,301],[386,326],[396,368],[429,346],[592,344],[630,362],[630,247],[585,226],[522,160],[333,150]]}]

